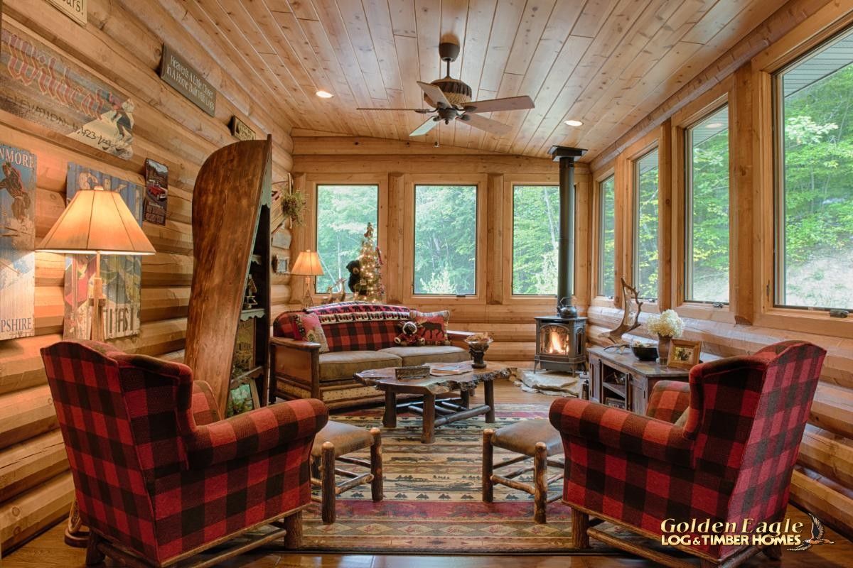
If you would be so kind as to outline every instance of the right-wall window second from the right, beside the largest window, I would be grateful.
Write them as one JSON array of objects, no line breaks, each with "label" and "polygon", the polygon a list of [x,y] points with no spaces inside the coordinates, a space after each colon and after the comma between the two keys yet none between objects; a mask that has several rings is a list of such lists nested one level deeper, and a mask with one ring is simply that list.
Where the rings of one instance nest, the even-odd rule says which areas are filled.
[{"label": "right-wall window second from the right, beside the largest window", "polygon": [[684,299],[728,303],[728,106],[687,131]]}]

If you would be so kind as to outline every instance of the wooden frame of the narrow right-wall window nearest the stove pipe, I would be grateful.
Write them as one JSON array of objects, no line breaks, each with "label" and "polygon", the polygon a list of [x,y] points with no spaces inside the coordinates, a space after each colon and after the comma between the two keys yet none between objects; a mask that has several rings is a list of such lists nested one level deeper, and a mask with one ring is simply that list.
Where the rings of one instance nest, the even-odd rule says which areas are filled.
[{"label": "wooden frame of the narrow right-wall window nearest the stove pipe", "polygon": [[[608,165],[605,169],[601,169],[600,171],[595,172],[593,175],[593,215],[592,219],[592,227],[591,234],[594,235],[591,242],[591,256],[592,256],[592,271],[590,278],[590,289],[589,289],[589,297],[592,298],[591,304],[594,306],[602,306],[602,307],[613,307],[619,297],[619,292],[621,291],[622,284],[619,282],[619,232],[620,226],[618,223],[618,181],[617,177],[617,169],[615,164]],[[603,199],[604,193],[601,191],[601,184],[605,181],[613,178],[613,297],[609,297],[601,294],[601,265],[602,265],[602,244],[604,241],[604,229],[602,226],[604,210],[603,210]]]}]

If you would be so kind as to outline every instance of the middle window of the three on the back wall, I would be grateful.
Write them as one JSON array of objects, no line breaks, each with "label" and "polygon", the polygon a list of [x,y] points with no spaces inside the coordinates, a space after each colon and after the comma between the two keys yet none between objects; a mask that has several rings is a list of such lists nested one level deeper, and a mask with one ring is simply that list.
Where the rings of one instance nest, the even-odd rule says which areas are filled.
[{"label": "middle window of the three on the back wall", "polygon": [[415,294],[473,295],[477,186],[415,186]]}]

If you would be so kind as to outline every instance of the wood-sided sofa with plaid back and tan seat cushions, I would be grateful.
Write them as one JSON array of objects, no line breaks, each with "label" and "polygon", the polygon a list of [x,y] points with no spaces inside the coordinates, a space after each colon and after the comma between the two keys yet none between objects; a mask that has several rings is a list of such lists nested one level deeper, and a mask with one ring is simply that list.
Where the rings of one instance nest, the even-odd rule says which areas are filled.
[{"label": "wood-sided sofa with plaid back and tan seat cushions", "polygon": [[[306,341],[294,328],[294,316],[305,313],[319,319],[328,344],[326,353],[321,353],[320,341]],[[397,338],[403,324],[415,314],[424,315],[405,306],[358,301],[279,314],[270,337],[270,401],[320,399],[331,409],[377,403],[384,400],[383,394],[365,387],[353,374],[469,359],[464,339],[470,334],[464,331],[448,330],[445,345],[401,345]]]}]

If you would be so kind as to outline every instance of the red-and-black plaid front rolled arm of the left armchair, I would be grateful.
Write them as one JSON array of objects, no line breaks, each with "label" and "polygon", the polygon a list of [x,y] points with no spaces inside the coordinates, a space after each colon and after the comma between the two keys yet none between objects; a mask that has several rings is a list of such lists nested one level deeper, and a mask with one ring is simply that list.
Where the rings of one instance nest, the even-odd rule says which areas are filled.
[{"label": "red-and-black plaid front rolled arm of the left armchair", "polygon": [[328,409],[317,399],[264,406],[196,428],[187,440],[189,467],[206,468],[313,438],[328,422]]}]

